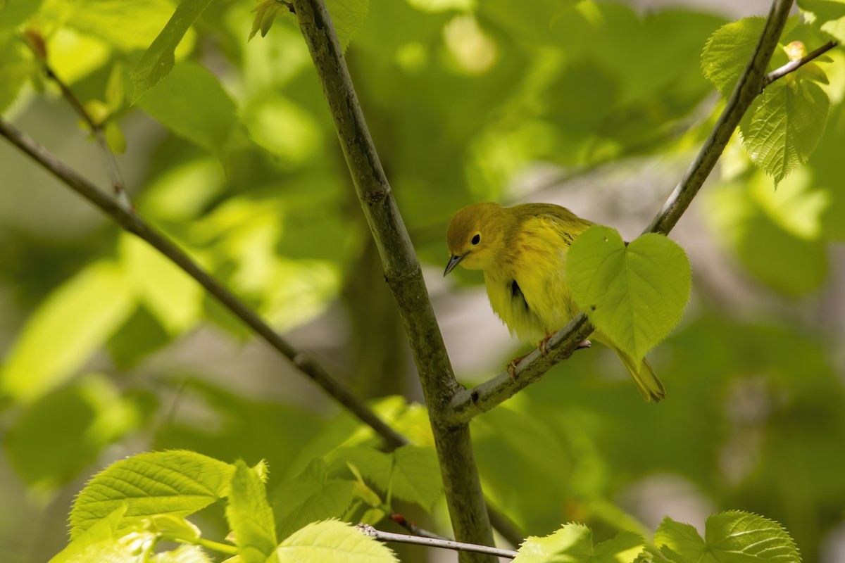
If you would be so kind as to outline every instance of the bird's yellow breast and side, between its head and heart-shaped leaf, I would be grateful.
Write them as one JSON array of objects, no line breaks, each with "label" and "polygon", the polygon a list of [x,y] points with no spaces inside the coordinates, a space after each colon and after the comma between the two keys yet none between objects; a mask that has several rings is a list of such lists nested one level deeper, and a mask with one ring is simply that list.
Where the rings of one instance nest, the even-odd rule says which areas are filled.
[{"label": "bird's yellow breast and side, between its head and heart-shaped leaf", "polygon": [[484,270],[493,311],[524,342],[537,343],[577,313],[564,276],[574,235],[562,227],[553,217],[526,219]]}]

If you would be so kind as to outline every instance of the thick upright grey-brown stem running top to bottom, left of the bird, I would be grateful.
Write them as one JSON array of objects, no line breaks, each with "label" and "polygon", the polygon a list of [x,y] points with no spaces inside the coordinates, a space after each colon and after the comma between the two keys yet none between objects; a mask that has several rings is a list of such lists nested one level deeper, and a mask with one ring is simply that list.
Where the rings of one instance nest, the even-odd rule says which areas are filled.
[{"label": "thick upright grey-brown stem running top to bottom, left of the bird", "polygon": [[[455,538],[492,545],[493,532],[478,479],[469,426],[444,425],[442,420],[452,397],[463,391],[463,387],[455,380],[417,255],[370,138],[334,25],[323,0],[294,0],[293,6],[335,121],[358,200],[379,249],[384,279],[393,292],[408,334],[428,405]],[[466,552],[461,552],[459,558],[493,560]]]}]

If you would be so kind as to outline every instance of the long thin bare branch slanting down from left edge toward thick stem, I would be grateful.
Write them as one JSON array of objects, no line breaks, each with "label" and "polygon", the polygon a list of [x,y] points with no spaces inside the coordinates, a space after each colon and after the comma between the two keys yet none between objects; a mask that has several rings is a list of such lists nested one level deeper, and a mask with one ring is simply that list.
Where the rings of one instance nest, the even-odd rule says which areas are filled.
[{"label": "long thin bare branch slanting down from left edge toward thick stem", "polygon": [[348,387],[330,376],[321,365],[314,362],[308,355],[289,344],[285,338],[282,338],[270,328],[257,313],[244,305],[243,301],[239,300],[231,291],[226,290],[210,273],[200,268],[191,257],[188,257],[188,254],[183,252],[166,235],[162,235],[158,230],[145,223],[137,214],[124,209],[113,198],[101,192],[90,181],[79,176],[76,171],[65,165],[61,160],[58,160],[55,155],[40,144],[35,143],[29,136],[21,133],[17,128],[3,119],[0,119],[0,135],[8,138],[16,147],[29,154],[33,160],[41,164],[47,171],[50,171],[53,176],[63,181],[74,192],[79,193],[83,198],[94,203],[98,208],[101,208],[102,211],[117,221],[117,224],[121,225],[123,229],[148,242],[150,246],[153,246],[157,251],[169,258],[172,263],[182,268],[185,273],[188,273],[189,276],[199,282],[211,295],[214,295],[217,300],[220,300],[223,306],[229,311],[232,311],[236,317],[245,322],[261,338],[264,338],[270,346],[278,350],[288,360],[291,360],[299,371],[302,371],[303,374],[311,378],[320,387],[323,387],[325,392],[335,398],[338,403],[341,403],[352,414],[355,414],[362,420],[364,424],[370,426],[379,436],[382,436],[391,448],[408,443],[405,436],[402,436],[399,432],[391,428],[390,425],[387,425],[384,420],[381,420],[366,404],[355,397]]}]

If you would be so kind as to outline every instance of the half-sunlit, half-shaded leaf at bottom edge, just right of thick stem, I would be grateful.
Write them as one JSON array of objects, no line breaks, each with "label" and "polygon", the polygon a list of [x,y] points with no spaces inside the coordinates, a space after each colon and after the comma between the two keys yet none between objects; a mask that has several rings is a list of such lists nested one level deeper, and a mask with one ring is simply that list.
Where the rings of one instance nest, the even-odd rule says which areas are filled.
[{"label": "half-sunlit, half-shaded leaf at bottom edge, just right of thick stem", "polygon": [[621,532],[593,546],[590,528],[566,524],[543,538],[527,538],[514,563],[633,563],[645,548],[641,536],[633,532]]}]

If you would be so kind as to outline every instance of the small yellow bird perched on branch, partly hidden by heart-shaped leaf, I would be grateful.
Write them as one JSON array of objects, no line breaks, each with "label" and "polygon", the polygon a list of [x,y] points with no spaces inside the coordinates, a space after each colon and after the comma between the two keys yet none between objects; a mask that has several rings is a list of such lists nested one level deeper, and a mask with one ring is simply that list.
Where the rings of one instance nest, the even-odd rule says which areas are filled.
[{"label": "small yellow bird perched on branch, partly hidden by heart-shaped leaf", "polygon": [[[553,203],[523,203],[502,208],[474,203],[452,218],[446,230],[449,264],[483,270],[490,306],[523,342],[541,341],[564,328],[578,313],[564,275],[566,252],[590,221]],[[646,360],[640,365],[596,331],[593,338],[616,352],[646,401],[666,397],[662,382]]]}]

